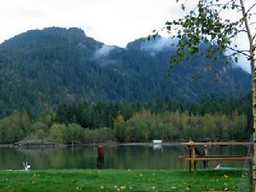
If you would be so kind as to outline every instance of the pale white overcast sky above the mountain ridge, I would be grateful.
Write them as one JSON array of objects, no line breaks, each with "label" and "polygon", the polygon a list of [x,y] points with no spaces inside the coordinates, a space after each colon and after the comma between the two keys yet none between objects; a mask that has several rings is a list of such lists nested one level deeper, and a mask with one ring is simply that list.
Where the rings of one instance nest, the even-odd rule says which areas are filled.
[{"label": "pale white overcast sky above the mountain ridge", "polygon": [[[188,14],[195,2],[183,11],[176,0],[0,0],[0,43],[30,29],[77,26],[104,44],[125,47]],[[243,38],[238,42],[246,46]]]}]

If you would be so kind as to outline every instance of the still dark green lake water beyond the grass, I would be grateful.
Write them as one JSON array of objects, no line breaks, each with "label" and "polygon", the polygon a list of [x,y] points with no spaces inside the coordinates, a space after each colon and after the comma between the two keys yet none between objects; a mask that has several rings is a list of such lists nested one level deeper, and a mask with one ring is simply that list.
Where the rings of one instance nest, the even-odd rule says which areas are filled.
[{"label": "still dark green lake water beyond the grass", "polygon": [[[165,146],[154,149],[145,146],[104,146],[105,168],[110,169],[188,169],[188,162],[180,159],[187,155],[184,146]],[[247,147],[211,147],[210,154],[247,154]],[[97,148],[93,146],[74,148],[0,148],[0,170],[22,169],[28,161],[36,169],[96,169]],[[242,161],[211,161],[210,167],[244,167]],[[202,167],[202,162],[199,162]]]}]

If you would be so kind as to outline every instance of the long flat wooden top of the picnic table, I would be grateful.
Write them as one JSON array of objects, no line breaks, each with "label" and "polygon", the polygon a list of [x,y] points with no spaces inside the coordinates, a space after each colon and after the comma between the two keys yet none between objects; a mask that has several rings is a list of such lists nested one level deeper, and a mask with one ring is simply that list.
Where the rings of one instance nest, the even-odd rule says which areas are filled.
[{"label": "long flat wooden top of the picnic table", "polygon": [[187,145],[187,146],[203,146],[203,145],[217,145],[217,146],[234,146],[234,145],[253,145],[253,142],[187,142],[187,143],[181,143],[181,145]]}]

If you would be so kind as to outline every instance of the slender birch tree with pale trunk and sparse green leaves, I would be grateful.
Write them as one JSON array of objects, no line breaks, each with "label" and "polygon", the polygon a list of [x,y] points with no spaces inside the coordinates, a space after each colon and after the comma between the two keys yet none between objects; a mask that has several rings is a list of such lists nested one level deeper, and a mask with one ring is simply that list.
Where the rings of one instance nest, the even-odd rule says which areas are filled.
[{"label": "slender birch tree with pale trunk and sparse green leaves", "polygon": [[[200,55],[214,61],[224,55],[227,61],[238,61],[244,56],[250,63],[252,74],[253,95],[253,188],[256,191],[256,79],[255,79],[255,49],[256,49],[256,3],[253,0],[199,0],[195,9],[188,10],[188,3],[194,1],[177,0],[181,9],[188,13],[178,20],[166,22],[164,29],[170,33],[177,46],[176,52],[170,58],[171,66],[168,75],[172,75],[175,66],[183,63],[190,55]],[[239,18],[236,19],[236,15]],[[156,38],[154,31],[148,38]],[[241,49],[236,39],[244,37],[247,49]],[[207,49],[201,49],[201,44],[207,44]],[[205,48],[205,47],[204,47]]]}]

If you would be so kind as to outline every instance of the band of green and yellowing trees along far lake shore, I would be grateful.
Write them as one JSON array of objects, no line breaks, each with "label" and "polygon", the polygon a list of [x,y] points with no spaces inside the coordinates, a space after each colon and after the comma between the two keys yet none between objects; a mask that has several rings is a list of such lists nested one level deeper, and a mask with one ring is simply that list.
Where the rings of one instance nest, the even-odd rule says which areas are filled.
[{"label": "band of green and yellowing trees along far lake shore", "polygon": [[193,139],[246,141],[251,97],[198,103],[164,101],[74,102],[38,118],[15,111],[0,119],[0,143],[38,140],[55,143],[179,142]]}]

